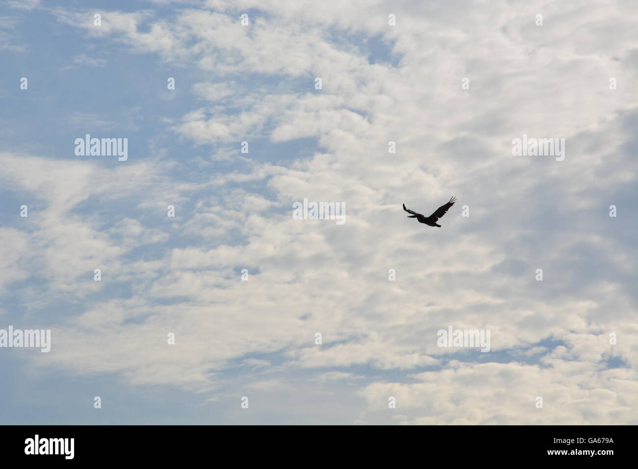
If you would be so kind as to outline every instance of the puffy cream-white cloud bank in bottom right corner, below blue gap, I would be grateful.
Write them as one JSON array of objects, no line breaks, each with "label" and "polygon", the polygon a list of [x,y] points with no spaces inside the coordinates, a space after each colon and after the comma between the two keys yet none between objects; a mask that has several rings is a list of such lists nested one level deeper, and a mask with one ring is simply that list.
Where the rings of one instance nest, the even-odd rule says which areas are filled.
[{"label": "puffy cream-white cloud bank in bottom right corner, below blue gap", "polygon": [[367,419],[388,413],[389,396],[396,398],[392,412],[402,415],[400,423],[422,425],[628,424],[635,421],[638,404],[634,371],[575,361],[556,361],[550,368],[455,361],[414,378],[416,383],[364,387]]}]

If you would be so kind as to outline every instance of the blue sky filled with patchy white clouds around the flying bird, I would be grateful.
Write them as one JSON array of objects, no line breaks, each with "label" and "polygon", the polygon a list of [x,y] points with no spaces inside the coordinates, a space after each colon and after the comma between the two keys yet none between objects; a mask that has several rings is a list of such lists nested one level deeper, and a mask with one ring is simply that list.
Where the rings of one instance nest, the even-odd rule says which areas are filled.
[{"label": "blue sky filled with patchy white clouds around the flying bird", "polygon": [[51,339],[0,347],[0,423],[638,424],[637,36],[630,0],[3,0],[0,329]]}]

